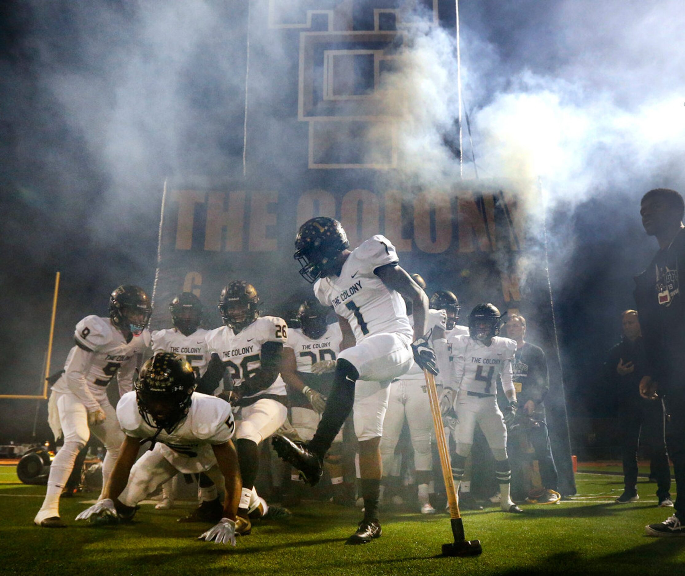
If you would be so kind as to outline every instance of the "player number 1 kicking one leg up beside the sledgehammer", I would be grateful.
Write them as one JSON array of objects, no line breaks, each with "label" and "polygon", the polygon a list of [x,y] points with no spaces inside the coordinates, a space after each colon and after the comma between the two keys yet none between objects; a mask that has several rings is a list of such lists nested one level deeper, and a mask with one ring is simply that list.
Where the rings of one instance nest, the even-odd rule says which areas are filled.
[{"label": "player number 1 kicking one leg up beside the sledgehammer", "polygon": [[[349,250],[340,222],[320,216],[300,226],[295,250],[301,276],[314,283],[319,302],[333,306],[338,315],[342,352],[312,440],[296,443],[274,436],[273,445],[313,486],[321,478],[326,452],[354,408],[364,519],[347,542],[364,544],[382,532],[378,521],[379,442],[390,382],[410,369],[412,356],[422,368],[437,372],[435,355],[424,337],[428,298],[399,266],[395,246],[382,235]],[[413,330],[402,296],[414,307]]]}]

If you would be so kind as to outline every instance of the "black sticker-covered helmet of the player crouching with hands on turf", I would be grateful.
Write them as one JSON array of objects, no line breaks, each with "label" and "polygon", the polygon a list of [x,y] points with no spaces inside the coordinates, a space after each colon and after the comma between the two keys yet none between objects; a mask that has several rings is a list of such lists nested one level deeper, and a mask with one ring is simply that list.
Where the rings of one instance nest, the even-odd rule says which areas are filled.
[{"label": "black sticker-covered helmet of the player crouching with hands on turf", "polygon": [[160,352],[142,365],[134,388],[142,419],[171,434],[190,409],[195,373],[180,354]]}]

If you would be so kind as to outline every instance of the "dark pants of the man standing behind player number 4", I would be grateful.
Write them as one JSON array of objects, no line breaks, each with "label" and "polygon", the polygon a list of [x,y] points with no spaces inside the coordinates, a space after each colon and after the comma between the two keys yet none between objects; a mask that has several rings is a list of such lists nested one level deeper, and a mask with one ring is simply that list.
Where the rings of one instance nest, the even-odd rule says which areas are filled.
[{"label": "dark pants of the man standing behind player number 4", "polygon": [[510,437],[507,449],[512,462],[512,491],[521,497],[523,490],[523,464],[525,460],[537,460],[540,469],[540,480],[548,490],[558,489],[558,474],[554,458],[552,456],[549,434],[547,434],[547,424],[545,420],[540,421],[539,425],[525,432],[528,443],[533,449],[532,454],[526,454],[522,448],[521,439],[516,434]]}]

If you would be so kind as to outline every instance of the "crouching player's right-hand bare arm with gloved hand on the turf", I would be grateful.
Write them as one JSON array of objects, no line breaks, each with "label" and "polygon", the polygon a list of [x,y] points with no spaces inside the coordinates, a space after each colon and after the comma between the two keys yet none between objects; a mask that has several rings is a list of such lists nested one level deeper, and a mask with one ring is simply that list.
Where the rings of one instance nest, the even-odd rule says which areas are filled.
[{"label": "crouching player's right-hand bare arm with gloved hand on the turf", "polygon": [[216,544],[236,545],[236,515],[238,514],[238,503],[240,501],[240,490],[242,481],[240,480],[240,469],[238,467],[238,453],[232,441],[223,444],[212,445],[216,464],[223,474],[226,484],[226,499],[223,505],[223,518],[198,536],[198,540],[214,540]]}]

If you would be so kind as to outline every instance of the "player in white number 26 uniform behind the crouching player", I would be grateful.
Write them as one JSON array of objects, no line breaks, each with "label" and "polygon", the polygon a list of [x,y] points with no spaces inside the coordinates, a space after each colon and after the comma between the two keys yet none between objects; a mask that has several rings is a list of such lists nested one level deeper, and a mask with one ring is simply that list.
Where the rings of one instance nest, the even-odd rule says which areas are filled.
[{"label": "player in white number 26 uniform behind the crouching player", "polygon": [[[266,506],[254,489],[259,471],[258,446],[278,430],[288,416],[286,383],[280,375],[288,326],[282,318],[260,316],[253,285],[234,280],[224,287],[219,311],[225,326],[207,337],[208,351],[219,354],[233,382],[231,404],[237,416],[236,449],[242,475],[238,515],[273,517],[284,509]],[[285,512],[288,514],[288,512]]]}]

